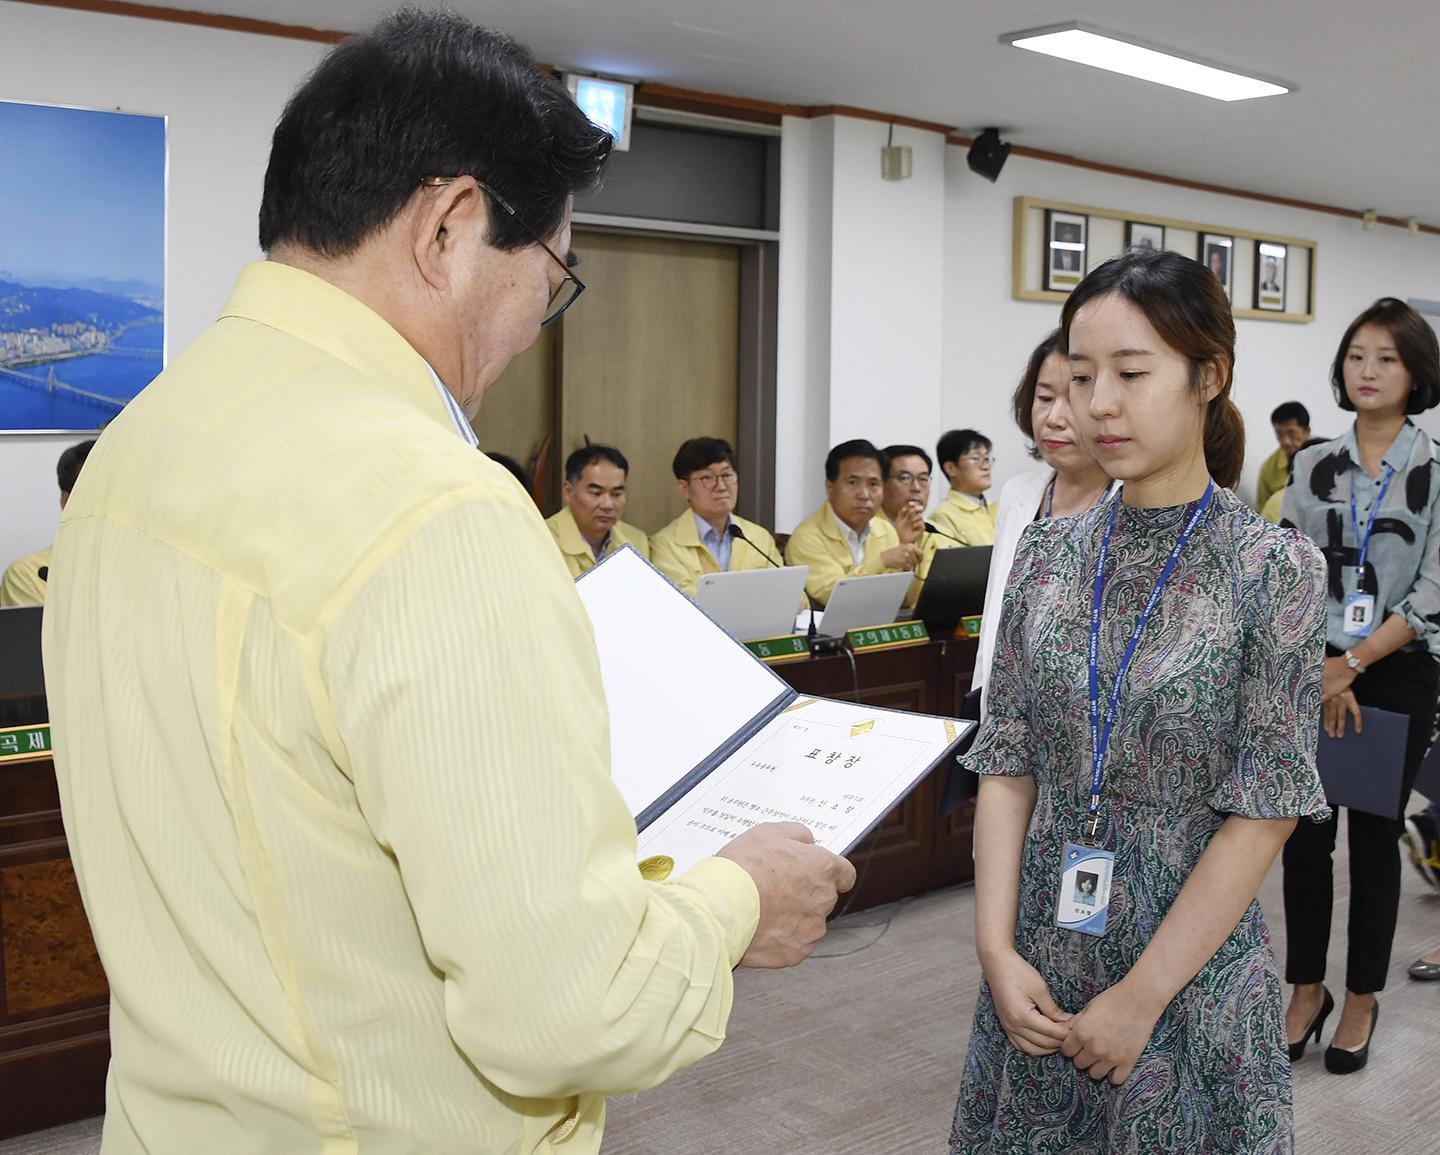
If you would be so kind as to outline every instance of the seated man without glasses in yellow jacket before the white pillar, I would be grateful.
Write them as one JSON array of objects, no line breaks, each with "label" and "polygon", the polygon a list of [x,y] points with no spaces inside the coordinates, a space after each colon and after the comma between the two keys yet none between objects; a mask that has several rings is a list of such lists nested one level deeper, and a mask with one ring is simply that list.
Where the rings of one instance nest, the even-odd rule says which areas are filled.
[{"label": "seated man without glasses in yellow jacket before the white pillar", "polygon": [[805,590],[824,606],[841,578],[914,569],[920,547],[901,541],[876,517],[884,491],[884,461],[868,441],[845,441],[825,457],[825,504],[801,521],[785,546],[785,562],[809,566]]}]

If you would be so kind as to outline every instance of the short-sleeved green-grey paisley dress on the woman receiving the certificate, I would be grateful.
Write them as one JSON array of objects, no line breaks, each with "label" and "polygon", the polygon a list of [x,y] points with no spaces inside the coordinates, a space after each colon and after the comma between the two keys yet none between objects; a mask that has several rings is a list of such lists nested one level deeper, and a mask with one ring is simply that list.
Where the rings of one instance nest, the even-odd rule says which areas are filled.
[{"label": "short-sleeved green-grey paisley dress on the woman receiving the certificate", "polygon": [[[1112,498],[1115,501],[1117,498]],[[1155,579],[1194,505],[1120,505],[1102,603],[1102,709]],[[1115,853],[1109,929],[1056,926],[1066,841],[1090,794],[1090,601],[1110,503],[1025,530],[1005,590],[991,714],[963,762],[1034,775],[1015,946],[1064,1011],[1135,965],[1230,814],[1325,815],[1315,770],[1325,563],[1292,530],[1217,490],[1126,674],[1104,768]],[[950,1133],[955,1155],[1290,1152],[1290,1063],[1270,935],[1251,903],[1161,1015],[1120,1086],[1005,1037],[982,985]]]}]

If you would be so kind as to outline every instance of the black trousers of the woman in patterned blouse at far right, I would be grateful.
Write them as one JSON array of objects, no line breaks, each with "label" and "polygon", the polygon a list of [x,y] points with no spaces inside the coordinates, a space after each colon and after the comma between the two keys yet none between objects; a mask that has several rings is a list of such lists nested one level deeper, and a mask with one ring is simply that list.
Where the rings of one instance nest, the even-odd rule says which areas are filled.
[{"label": "black trousers of the woman in patterned blouse at far right", "polygon": [[[1420,769],[1436,716],[1440,665],[1426,650],[1397,651],[1355,678],[1361,706],[1410,714],[1405,776],[1400,805]],[[1346,729],[1354,719],[1346,719]],[[1403,814],[1381,818],[1349,812],[1351,912],[1345,989],[1368,995],[1385,989],[1390,946],[1400,912],[1400,845]],[[1331,855],[1339,815],[1328,822],[1302,818],[1284,844],[1284,981],[1322,982],[1331,945],[1335,883]]]}]

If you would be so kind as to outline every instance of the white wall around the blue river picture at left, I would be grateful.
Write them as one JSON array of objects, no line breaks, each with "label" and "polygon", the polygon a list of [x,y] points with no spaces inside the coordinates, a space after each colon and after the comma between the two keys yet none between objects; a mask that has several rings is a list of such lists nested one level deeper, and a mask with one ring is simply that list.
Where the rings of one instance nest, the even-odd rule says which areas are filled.
[{"label": "white wall around the blue river picture at left", "polygon": [[[324,45],[0,3],[0,98],[170,118],[167,353],[256,259],[269,135]],[[43,179],[43,174],[36,174]],[[0,567],[55,539],[55,462],[75,436],[0,436]]]}]

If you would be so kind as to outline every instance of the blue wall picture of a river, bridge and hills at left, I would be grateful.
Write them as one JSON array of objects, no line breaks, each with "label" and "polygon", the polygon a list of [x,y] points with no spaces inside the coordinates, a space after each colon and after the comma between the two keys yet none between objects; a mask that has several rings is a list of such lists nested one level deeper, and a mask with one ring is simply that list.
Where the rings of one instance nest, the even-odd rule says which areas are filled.
[{"label": "blue wall picture of a river, bridge and hills at left", "polygon": [[166,118],[0,101],[0,433],[92,432],[164,367]]}]

